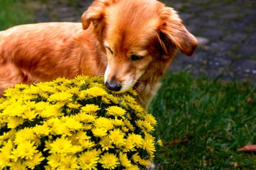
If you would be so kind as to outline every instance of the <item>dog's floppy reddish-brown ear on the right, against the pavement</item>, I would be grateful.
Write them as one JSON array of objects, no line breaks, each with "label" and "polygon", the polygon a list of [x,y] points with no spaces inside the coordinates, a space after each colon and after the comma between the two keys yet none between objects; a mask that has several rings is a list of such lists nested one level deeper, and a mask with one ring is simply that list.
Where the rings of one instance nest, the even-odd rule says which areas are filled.
[{"label": "dog's floppy reddish-brown ear on the right, against the pavement", "polygon": [[174,9],[163,7],[160,13],[158,37],[164,54],[173,55],[173,50],[179,48],[183,54],[191,56],[197,47],[197,39],[186,28]]}]

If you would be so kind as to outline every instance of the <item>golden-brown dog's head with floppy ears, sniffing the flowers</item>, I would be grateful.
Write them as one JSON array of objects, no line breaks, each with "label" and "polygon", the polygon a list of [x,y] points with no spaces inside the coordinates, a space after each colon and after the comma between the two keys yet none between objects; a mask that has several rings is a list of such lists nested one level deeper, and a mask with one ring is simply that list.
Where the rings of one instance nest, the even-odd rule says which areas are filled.
[{"label": "golden-brown dog's head with floppy ears, sniffing the flowers", "polygon": [[177,49],[191,56],[197,46],[177,12],[155,0],[95,0],[82,15],[84,30],[91,23],[106,50],[104,79],[113,91],[133,87],[149,67],[168,62]]}]

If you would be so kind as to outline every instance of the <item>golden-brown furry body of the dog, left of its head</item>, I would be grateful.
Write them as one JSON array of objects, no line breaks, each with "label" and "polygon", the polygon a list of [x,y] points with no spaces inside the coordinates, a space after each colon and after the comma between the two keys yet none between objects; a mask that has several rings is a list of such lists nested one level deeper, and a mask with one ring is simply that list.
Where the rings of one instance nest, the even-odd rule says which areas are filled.
[{"label": "golden-brown furry body of the dog, left of its head", "polygon": [[96,45],[92,36],[82,30],[81,23],[67,22],[27,24],[1,31],[0,93],[15,83],[51,81],[81,74],[84,69],[81,61],[92,53],[88,45]]}]

